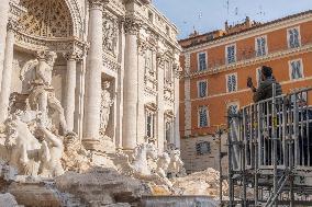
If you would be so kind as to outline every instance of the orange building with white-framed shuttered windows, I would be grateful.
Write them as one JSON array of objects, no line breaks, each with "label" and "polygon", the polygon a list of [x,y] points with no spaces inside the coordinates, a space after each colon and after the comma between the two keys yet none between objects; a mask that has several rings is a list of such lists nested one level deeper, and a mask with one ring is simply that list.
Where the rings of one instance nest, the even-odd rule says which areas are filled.
[{"label": "orange building with white-framed shuttered windows", "polygon": [[[308,11],[263,24],[246,18],[242,24],[225,23],[224,31],[180,41],[182,151],[189,139],[203,136],[213,142],[209,135],[218,126],[226,127],[227,111],[236,112],[253,102],[247,78],[257,87],[261,66],[272,68],[283,93],[311,87],[311,28],[312,12]],[[218,154],[212,157],[218,159]]]}]

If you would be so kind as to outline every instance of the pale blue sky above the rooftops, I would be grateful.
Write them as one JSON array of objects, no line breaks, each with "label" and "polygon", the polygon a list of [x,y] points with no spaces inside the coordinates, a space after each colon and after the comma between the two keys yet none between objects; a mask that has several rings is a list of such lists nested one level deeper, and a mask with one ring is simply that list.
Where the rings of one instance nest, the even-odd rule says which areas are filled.
[{"label": "pale blue sky above the rooftops", "polygon": [[[186,38],[194,28],[200,34],[224,28],[224,22],[242,23],[246,16],[268,22],[312,10],[312,0],[152,0]],[[229,2],[229,3],[227,3]]]}]

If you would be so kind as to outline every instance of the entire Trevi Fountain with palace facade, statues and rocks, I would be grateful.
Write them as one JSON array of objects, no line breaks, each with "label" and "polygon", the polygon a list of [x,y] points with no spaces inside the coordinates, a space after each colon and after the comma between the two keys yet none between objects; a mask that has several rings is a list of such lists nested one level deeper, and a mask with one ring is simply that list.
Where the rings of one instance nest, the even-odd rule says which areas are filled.
[{"label": "entire Trevi Fountain with palace facade, statues and rocks", "polygon": [[177,28],[149,0],[0,14],[1,207],[216,206],[218,172],[183,170]]}]

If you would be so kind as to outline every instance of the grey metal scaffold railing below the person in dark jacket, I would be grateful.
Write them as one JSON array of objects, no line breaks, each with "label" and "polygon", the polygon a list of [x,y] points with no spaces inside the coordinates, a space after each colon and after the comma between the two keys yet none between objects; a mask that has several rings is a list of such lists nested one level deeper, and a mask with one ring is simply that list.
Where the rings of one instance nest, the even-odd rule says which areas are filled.
[{"label": "grey metal scaffold railing below the person in dark jacket", "polygon": [[[276,96],[274,85],[271,99],[229,114],[230,206],[235,206],[231,200],[238,184],[243,186],[243,206],[250,206],[247,200],[255,206],[260,200],[276,206],[285,203],[281,196],[288,197],[289,205],[303,202],[296,199],[300,186],[312,189],[312,180],[307,179],[312,177],[311,105],[312,88]],[[254,191],[253,198],[246,195],[247,186]],[[307,193],[305,202],[312,205],[312,191]]]}]

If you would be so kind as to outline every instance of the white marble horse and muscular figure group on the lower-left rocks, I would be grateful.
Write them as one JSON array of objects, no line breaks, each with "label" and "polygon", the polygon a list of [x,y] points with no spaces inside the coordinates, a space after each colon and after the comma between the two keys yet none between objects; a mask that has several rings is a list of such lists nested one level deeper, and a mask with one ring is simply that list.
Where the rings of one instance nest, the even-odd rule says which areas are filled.
[{"label": "white marble horse and muscular figure group on the lower-left rocks", "polygon": [[[41,125],[40,115],[31,118],[30,114],[18,111],[5,120],[9,164],[21,175],[58,176],[64,173],[63,141]],[[42,143],[37,138],[43,139]]]}]

